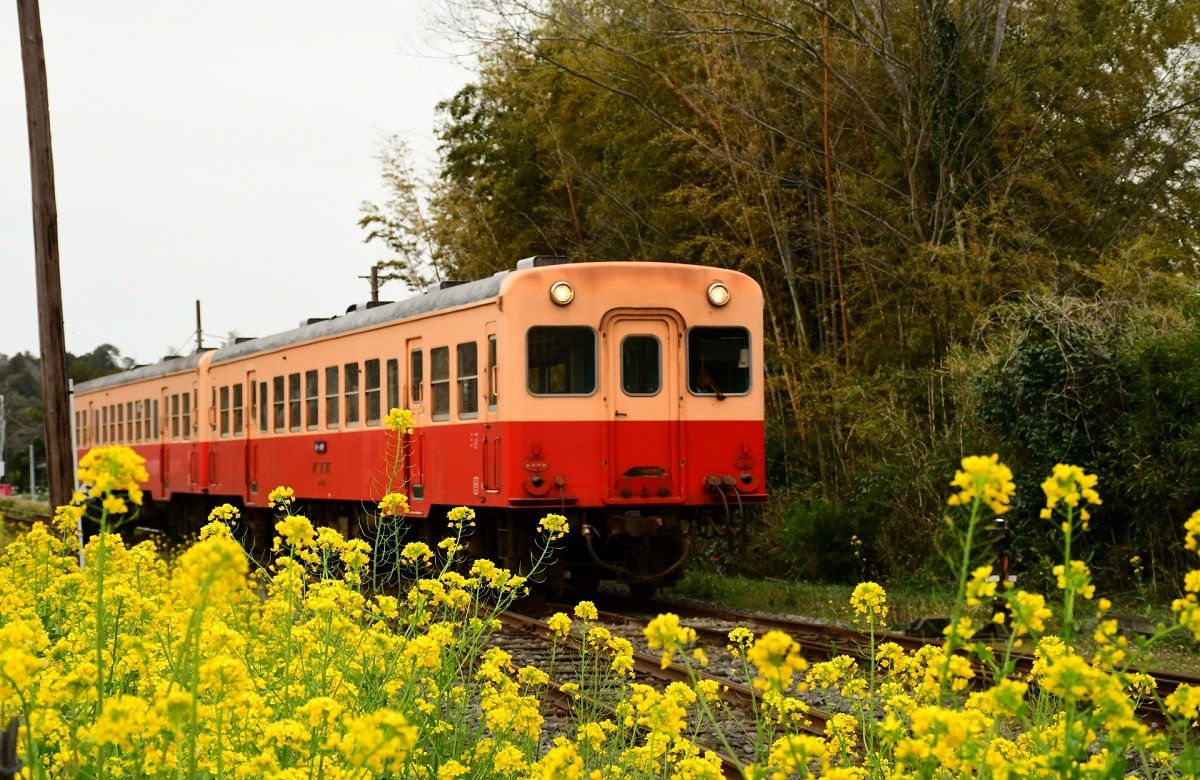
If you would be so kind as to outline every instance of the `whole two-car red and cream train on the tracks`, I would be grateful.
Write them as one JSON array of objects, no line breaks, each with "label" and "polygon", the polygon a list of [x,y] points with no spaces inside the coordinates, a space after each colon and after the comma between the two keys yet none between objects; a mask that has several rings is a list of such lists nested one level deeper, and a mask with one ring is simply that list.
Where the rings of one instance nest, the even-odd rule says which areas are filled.
[{"label": "whole two-car red and cream train on the tracks", "polygon": [[[762,366],[743,274],[535,257],[82,383],[77,443],[137,450],[148,510],[181,530],[223,502],[269,529],[281,485],[314,523],[370,529],[391,458],[424,536],[472,506],[473,552],[516,569],[557,512],[558,584],[648,589],[679,576],[692,534],[766,500]],[[416,424],[401,446],[394,407]]]}]

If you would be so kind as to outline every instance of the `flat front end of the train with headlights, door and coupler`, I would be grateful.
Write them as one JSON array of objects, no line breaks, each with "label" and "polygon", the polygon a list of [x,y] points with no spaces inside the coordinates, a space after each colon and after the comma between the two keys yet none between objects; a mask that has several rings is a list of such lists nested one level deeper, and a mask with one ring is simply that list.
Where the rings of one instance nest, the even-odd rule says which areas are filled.
[{"label": "flat front end of the train with headlights, door and coupler", "polygon": [[568,517],[574,586],[653,592],[766,500],[762,292],[722,269],[538,262],[500,287],[497,482]]}]

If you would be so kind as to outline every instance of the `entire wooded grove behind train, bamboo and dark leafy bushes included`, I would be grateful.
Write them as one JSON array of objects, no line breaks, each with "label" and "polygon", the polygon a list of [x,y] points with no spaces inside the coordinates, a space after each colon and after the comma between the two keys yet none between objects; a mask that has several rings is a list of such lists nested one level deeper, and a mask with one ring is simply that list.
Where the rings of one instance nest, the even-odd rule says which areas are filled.
[{"label": "entire wooded grove behind train, bamboo and dark leafy bushes included", "polygon": [[757,278],[782,564],[818,569],[802,541],[836,517],[834,568],[851,534],[880,571],[926,565],[911,540],[936,539],[938,475],[970,450],[1096,463],[1114,554],[1159,522],[1150,497],[1177,547],[1200,499],[1181,487],[1200,472],[1198,17],[1175,0],[449,4],[445,30],[480,55],[442,106],[438,175],[421,196],[397,142],[391,197],[361,224],[418,287],[535,253]]}]

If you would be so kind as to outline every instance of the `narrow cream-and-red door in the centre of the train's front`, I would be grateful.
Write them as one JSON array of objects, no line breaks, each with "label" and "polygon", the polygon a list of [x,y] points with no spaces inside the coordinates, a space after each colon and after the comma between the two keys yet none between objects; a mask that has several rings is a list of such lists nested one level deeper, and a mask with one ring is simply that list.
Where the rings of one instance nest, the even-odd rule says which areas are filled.
[{"label": "narrow cream-and-red door in the centre of the train's front", "polygon": [[678,498],[682,326],[667,312],[612,312],[606,320],[608,502]]}]

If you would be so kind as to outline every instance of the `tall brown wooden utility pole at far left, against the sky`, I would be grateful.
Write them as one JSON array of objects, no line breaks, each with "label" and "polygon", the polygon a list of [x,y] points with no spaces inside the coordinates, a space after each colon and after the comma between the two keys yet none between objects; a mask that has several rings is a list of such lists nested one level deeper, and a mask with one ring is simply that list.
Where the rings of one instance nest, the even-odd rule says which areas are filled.
[{"label": "tall brown wooden utility pole at far left, against the sky", "polygon": [[[46,404],[46,472],[50,506],[71,503],[74,492],[74,444],[67,392],[67,350],[62,335],[62,286],[59,280],[59,214],[54,203],[50,154],[50,101],[46,88],[46,52],[37,0],[17,0],[20,61],[25,71],[29,169],[34,196],[34,254],[37,265],[37,330],[42,348],[42,401]],[[32,468],[32,463],[30,463]]]}]

